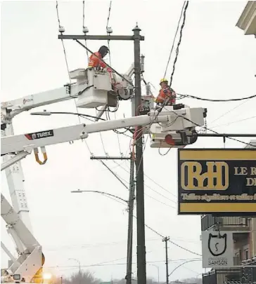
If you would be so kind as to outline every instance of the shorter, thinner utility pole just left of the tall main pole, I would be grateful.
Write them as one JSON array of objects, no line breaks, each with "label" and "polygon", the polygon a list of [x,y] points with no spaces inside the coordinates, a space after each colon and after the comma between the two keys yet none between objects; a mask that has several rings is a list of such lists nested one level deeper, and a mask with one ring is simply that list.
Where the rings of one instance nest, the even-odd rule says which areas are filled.
[{"label": "shorter, thinner utility pole just left of the tall main pole", "polygon": [[126,283],[132,284],[132,240],[134,220],[134,158],[131,154],[130,180],[129,180],[129,205],[128,205],[128,238],[127,238],[127,274]]}]

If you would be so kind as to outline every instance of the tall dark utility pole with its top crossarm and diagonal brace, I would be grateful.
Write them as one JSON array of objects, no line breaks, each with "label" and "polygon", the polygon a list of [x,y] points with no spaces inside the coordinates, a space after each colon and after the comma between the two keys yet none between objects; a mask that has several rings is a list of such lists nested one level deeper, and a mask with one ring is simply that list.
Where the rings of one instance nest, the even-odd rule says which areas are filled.
[{"label": "tall dark utility pole with its top crossarm and diagonal brace", "polygon": [[[58,35],[58,39],[72,39],[84,47],[89,53],[93,53],[87,46],[84,46],[79,40],[103,40],[103,41],[134,41],[134,76],[135,76],[135,97],[133,104],[135,107],[135,116],[139,115],[137,110],[141,105],[141,58],[140,58],[140,42],[144,40],[144,36],[140,35],[141,29],[136,25],[132,30],[132,36],[108,35],[64,35],[62,30]],[[111,68],[108,64],[108,67]],[[113,69],[113,72],[120,75]],[[122,76],[122,75],[121,75]],[[125,79],[122,76],[123,79]],[[125,79],[127,81],[127,79]],[[129,82],[131,84],[131,82]],[[133,85],[132,85],[133,86]],[[94,158],[95,159],[95,158]],[[145,248],[145,217],[144,217],[144,177],[143,177],[143,135],[141,126],[136,128],[136,212],[137,212],[137,278],[139,284],[146,284],[146,248]],[[131,223],[131,222],[129,222]],[[129,238],[130,239],[130,238]],[[129,249],[131,250],[131,248]],[[129,259],[130,262],[130,259]],[[128,265],[127,265],[128,268]]]}]

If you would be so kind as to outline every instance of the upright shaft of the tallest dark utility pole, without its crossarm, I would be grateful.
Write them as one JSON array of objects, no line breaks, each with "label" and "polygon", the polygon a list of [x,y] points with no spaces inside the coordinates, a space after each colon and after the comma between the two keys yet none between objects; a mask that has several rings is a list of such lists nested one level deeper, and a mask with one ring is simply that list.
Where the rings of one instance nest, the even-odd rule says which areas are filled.
[{"label": "upright shaft of the tallest dark utility pole, without its crossarm", "polygon": [[[135,116],[141,106],[141,29],[136,25],[134,32],[134,79],[135,79]],[[143,173],[143,133],[138,126],[135,131],[136,142],[136,212],[137,212],[137,280],[146,284],[146,246],[145,246],[145,209]]]}]

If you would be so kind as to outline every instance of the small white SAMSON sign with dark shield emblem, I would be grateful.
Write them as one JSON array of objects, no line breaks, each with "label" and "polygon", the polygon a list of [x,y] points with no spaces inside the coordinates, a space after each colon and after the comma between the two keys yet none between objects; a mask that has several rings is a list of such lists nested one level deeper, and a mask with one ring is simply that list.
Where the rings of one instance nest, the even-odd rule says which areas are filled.
[{"label": "small white SAMSON sign with dark shield emblem", "polygon": [[233,267],[233,233],[202,232],[203,268]]}]

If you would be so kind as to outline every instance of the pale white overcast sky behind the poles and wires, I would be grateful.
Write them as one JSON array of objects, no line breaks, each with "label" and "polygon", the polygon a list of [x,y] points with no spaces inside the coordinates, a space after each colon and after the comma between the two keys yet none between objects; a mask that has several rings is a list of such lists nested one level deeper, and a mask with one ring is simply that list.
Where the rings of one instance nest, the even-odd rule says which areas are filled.
[{"label": "pale white overcast sky behind the poles and wires", "polygon": [[[85,25],[89,34],[105,34],[109,1],[85,1]],[[189,1],[186,25],[179,48],[172,87],[178,93],[206,99],[231,99],[255,94],[255,38],[245,36],[236,27],[246,1]],[[182,1],[113,1],[109,25],[113,34],[132,34],[138,22],[145,41],[146,81],[157,95],[165,73],[169,52],[177,28]],[[65,34],[82,34],[82,1],[59,2],[60,24]],[[65,41],[69,70],[85,68],[85,50],[74,41]],[[91,50],[106,42],[88,41]],[[124,73],[133,62],[132,42],[110,42],[111,63]],[[172,73],[175,53],[167,69]],[[109,57],[107,58],[109,62]],[[58,39],[55,1],[4,1],[1,3],[1,101],[59,88],[68,82],[63,46]],[[255,99],[241,102],[204,102],[182,100],[190,107],[207,108],[207,126],[219,133],[253,133]],[[33,111],[76,111],[75,102],[59,102]],[[80,109],[85,114],[94,110]],[[116,118],[131,116],[129,101],[122,102]],[[114,114],[110,114],[115,119]],[[84,119],[82,119],[84,121]],[[72,126],[77,116],[30,116],[30,111],[13,119],[15,134]],[[101,137],[103,143],[101,142]],[[118,140],[119,139],[119,140]],[[248,138],[241,138],[249,142]],[[119,142],[120,141],[120,147]],[[126,205],[99,194],[71,194],[72,190],[101,190],[128,198],[125,187],[91,153],[102,156],[129,154],[129,137],[113,132],[89,135],[87,144],[58,144],[47,147],[49,161],[38,165],[34,156],[22,161],[25,190],[34,236],[43,246],[45,267],[57,275],[70,276],[77,271],[78,259],[83,269],[103,280],[124,278],[126,274]],[[88,146],[88,147],[87,147]],[[226,140],[226,148],[245,145]],[[190,148],[224,147],[221,138],[199,138]],[[89,149],[88,149],[89,148]],[[120,150],[121,149],[121,150]],[[200,216],[177,215],[177,149],[165,156],[165,149],[151,149],[149,139],[144,152],[146,224],[179,246],[198,254]],[[108,166],[125,183],[129,181],[129,162]],[[1,192],[10,201],[8,185],[1,173]],[[134,221],[134,224],[136,222]],[[134,236],[136,228],[134,227]],[[1,222],[1,240],[12,251],[15,247]],[[198,257],[169,243],[169,271],[181,261]],[[117,259],[117,260],[115,260]],[[1,250],[1,267],[8,257]],[[165,280],[165,247],[162,238],[146,229],[147,276]],[[91,266],[99,264],[98,266]],[[136,275],[136,238],[134,238],[134,275]],[[200,261],[174,271],[170,280],[196,277],[205,271]]]}]

